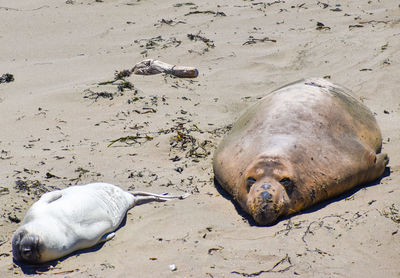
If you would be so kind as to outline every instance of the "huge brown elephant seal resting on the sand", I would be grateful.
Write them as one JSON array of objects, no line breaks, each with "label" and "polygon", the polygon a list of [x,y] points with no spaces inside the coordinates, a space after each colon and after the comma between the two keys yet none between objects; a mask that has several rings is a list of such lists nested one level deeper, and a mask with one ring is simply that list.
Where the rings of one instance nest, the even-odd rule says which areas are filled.
[{"label": "huge brown elephant seal resting on the sand", "polygon": [[377,179],[389,159],[372,113],[349,91],[306,79],[263,97],[216,150],[218,183],[260,225]]}]

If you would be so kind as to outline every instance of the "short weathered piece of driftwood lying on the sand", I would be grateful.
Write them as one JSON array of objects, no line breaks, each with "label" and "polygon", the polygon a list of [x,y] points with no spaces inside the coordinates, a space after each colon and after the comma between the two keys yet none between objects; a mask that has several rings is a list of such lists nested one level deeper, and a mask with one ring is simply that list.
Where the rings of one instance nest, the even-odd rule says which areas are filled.
[{"label": "short weathered piece of driftwood lying on the sand", "polygon": [[147,59],[137,63],[132,72],[140,75],[168,73],[176,77],[195,78],[199,72],[194,67],[174,66],[158,60]]}]

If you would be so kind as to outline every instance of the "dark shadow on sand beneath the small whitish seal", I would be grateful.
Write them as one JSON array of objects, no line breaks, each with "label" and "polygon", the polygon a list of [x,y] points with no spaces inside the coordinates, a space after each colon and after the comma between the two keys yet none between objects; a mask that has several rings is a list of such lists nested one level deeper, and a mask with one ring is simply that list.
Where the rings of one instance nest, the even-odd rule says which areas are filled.
[{"label": "dark shadow on sand beneath the small whitish seal", "polygon": [[[118,228],[114,232],[117,232],[119,229],[121,229],[123,226],[125,226],[125,224],[126,224],[126,215],[125,215],[124,219],[122,220],[121,224],[118,226]],[[84,253],[96,252],[96,251],[100,250],[105,243],[106,242],[102,242],[102,243],[96,244],[95,246],[92,246],[89,248],[77,250],[77,251],[75,251],[71,254],[68,254],[62,258],[59,258],[57,260],[50,261],[50,262],[45,262],[42,264],[27,264],[27,263],[17,262],[17,261],[15,261],[15,259],[13,259],[13,262],[21,268],[22,272],[25,275],[41,274],[41,273],[51,270],[58,263],[68,259],[69,257],[79,256],[80,254],[84,254]]]}]

